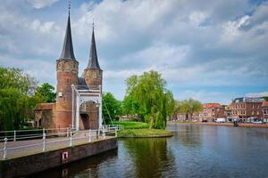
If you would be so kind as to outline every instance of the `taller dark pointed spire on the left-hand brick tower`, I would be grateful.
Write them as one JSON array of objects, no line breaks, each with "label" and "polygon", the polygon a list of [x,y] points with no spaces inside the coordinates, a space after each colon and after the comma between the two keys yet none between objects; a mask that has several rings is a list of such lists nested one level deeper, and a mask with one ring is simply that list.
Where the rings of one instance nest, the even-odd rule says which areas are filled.
[{"label": "taller dark pointed spire on the left-hand brick tower", "polygon": [[67,21],[67,27],[63,42],[63,51],[60,56],[60,60],[75,60],[74,53],[73,53],[73,47],[72,47],[72,39],[71,39],[71,20],[70,20],[70,9],[71,9],[71,1],[69,1],[69,13],[68,13],[68,21]]}]

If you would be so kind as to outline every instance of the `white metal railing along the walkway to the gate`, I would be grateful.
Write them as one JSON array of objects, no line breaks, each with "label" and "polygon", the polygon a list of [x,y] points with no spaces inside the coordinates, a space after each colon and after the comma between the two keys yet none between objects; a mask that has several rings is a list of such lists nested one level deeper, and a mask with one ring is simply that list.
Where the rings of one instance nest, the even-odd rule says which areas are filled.
[{"label": "white metal railing along the walkway to the gate", "polygon": [[[3,149],[0,149],[0,153],[3,152],[3,159],[13,158],[15,154],[20,153],[22,150],[26,150],[27,155],[30,151],[45,152],[46,150],[53,150],[56,143],[64,147],[75,146],[75,142],[94,142],[96,140],[105,139],[106,135],[115,134],[117,131],[123,129],[123,125],[103,125],[101,129],[88,129],[82,131],[75,131],[74,129],[36,129],[34,131],[41,131],[40,134],[25,134],[16,135],[18,132],[23,131],[5,131],[4,133],[13,133],[13,136],[6,136],[4,139]],[[30,132],[33,130],[28,130]],[[39,139],[38,139],[39,138]],[[34,139],[34,140],[33,140]],[[24,140],[18,142],[18,140]],[[27,141],[25,141],[27,140]],[[30,142],[32,140],[32,142]],[[61,148],[62,149],[62,148]],[[1,158],[0,158],[1,159]]]}]

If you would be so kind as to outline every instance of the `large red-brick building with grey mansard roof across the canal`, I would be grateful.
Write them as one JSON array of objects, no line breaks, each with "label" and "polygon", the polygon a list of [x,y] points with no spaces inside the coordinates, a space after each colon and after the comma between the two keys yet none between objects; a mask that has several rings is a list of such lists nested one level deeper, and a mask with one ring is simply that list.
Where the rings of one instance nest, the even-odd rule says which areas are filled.
[{"label": "large red-brick building with grey mansard roof across the canal", "polygon": [[257,118],[263,117],[261,98],[236,98],[231,102],[232,117],[236,117],[239,121],[250,122]]}]

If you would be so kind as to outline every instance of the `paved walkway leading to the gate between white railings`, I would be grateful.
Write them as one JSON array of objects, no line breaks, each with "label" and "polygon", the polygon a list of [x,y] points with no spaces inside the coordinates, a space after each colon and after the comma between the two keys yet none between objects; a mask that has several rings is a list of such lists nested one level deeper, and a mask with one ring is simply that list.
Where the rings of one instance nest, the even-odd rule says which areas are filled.
[{"label": "paved walkway leading to the gate between white railings", "polygon": [[[96,138],[96,133],[91,133],[91,142],[97,140],[104,140],[105,138],[112,138],[112,136],[102,136]],[[70,146],[70,137],[57,137],[46,139],[46,151],[59,150]],[[78,133],[72,136],[72,146],[80,145],[89,142],[88,133]],[[18,148],[20,147],[20,148]],[[0,142],[0,160],[3,160],[4,156],[4,142]],[[6,158],[18,158],[27,155],[43,152],[43,140],[28,140],[18,142],[7,142]]]}]

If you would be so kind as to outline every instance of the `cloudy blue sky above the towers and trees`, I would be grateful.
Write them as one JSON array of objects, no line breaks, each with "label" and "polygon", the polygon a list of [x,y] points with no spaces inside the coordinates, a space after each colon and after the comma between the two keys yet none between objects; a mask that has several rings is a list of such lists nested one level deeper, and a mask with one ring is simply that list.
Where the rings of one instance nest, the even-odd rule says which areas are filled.
[{"label": "cloudy blue sky above the towers and trees", "polygon": [[[67,0],[1,0],[0,66],[56,85]],[[80,75],[92,21],[104,90],[122,100],[125,79],[156,70],[177,100],[228,104],[268,95],[268,2],[261,0],[72,0]]]}]

